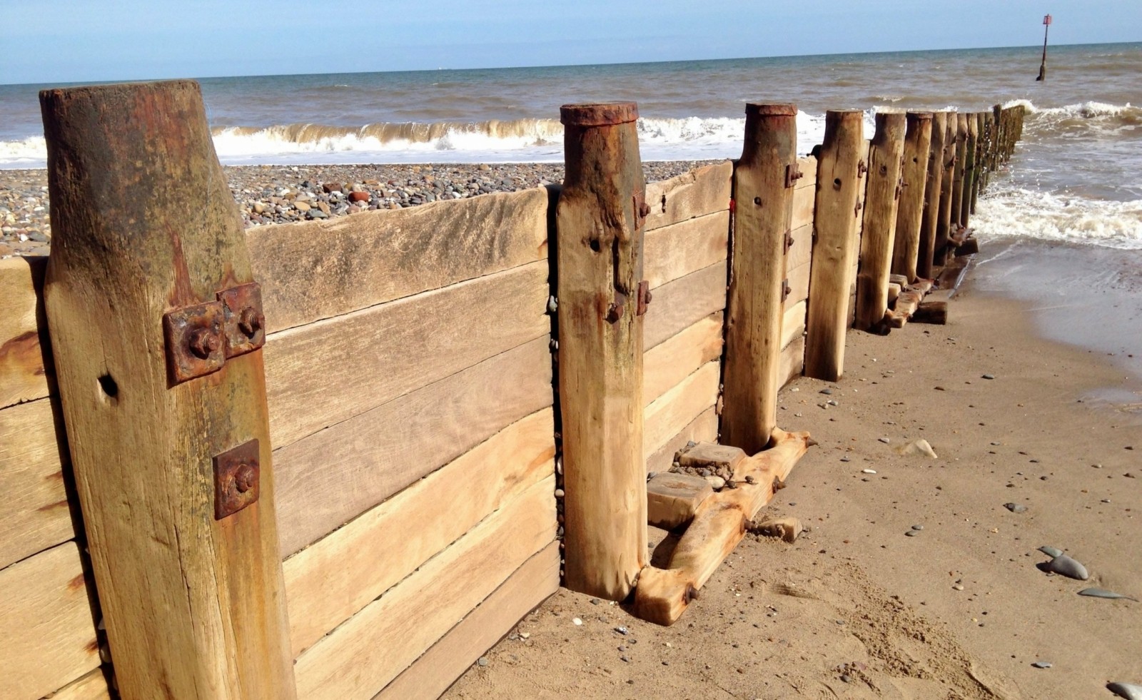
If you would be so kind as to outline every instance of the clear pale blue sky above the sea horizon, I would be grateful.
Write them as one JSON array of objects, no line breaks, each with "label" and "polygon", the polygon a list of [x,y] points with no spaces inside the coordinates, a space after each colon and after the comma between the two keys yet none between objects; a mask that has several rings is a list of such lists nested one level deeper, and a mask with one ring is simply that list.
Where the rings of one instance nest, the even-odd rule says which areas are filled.
[{"label": "clear pale blue sky above the sea horizon", "polygon": [[0,83],[1142,41],[1137,0],[0,0]]}]

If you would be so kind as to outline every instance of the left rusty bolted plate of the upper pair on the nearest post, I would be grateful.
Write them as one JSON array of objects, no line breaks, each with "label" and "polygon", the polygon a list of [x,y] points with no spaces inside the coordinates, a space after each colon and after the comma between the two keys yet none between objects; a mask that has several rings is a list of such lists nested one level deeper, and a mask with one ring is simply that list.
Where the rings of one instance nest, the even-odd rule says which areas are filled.
[{"label": "left rusty bolted plate of the upper pair on the nearest post", "polygon": [[171,384],[217,372],[226,363],[223,305],[207,301],[162,316],[167,341],[167,376]]}]

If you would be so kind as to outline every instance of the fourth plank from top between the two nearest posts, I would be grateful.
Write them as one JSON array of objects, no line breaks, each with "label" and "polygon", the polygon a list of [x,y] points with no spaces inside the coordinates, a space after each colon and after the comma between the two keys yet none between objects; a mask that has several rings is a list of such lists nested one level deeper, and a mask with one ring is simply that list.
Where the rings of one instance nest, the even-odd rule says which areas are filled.
[{"label": "fourth plank from top between the two nearest posts", "polygon": [[[555,473],[554,411],[518,420],[286,560],[297,657],[489,513]],[[432,526],[425,526],[432,523]],[[378,547],[378,542],[385,542]]]}]

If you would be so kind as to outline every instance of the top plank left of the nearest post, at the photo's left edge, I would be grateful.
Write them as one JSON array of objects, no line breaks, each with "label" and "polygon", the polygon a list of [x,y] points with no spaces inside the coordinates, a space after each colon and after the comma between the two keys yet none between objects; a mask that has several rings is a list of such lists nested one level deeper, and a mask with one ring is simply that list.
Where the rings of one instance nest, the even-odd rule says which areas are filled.
[{"label": "top plank left of the nearest post, at the photo's left edge", "polygon": [[[37,321],[47,258],[0,259],[0,408],[48,395]],[[45,325],[45,332],[47,327]],[[49,359],[50,362],[50,359]]]}]

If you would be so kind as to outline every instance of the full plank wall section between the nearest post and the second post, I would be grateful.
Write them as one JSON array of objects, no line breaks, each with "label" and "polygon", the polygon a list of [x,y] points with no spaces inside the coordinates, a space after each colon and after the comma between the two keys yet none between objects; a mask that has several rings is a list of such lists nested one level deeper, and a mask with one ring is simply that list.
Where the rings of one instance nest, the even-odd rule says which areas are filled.
[{"label": "full plank wall section between the nearest post and the second post", "polygon": [[557,588],[547,211],[248,232],[300,698],[435,698]]}]

